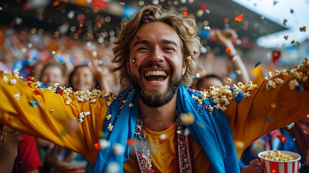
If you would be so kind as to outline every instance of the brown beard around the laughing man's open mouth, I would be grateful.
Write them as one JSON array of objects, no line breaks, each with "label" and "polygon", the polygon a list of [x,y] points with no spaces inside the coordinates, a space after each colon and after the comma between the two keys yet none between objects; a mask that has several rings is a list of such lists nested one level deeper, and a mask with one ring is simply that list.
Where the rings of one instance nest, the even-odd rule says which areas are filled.
[{"label": "brown beard around the laughing man's open mouth", "polygon": [[183,75],[181,73],[176,74],[174,78],[170,77],[171,82],[167,90],[161,93],[160,88],[153,88],[151,92],[147,92],[140,77],[133,74],[130,76],[133,88],[137,91],[139,98],[149,107],[161,107],[168,104],[178,91],[178,87],[181,84],[182,79]]}]

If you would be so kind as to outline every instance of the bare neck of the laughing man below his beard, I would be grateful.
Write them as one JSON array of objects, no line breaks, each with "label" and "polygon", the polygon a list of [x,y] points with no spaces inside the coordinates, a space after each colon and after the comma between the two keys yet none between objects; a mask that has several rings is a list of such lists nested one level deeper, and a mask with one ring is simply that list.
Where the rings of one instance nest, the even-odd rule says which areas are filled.
[{"label": "bare neck of the laughing man below his beard", "polygon": [[139,100],[139,113],[143,124],[155,132],[166,130],[175,123],[176,107],[176,95],[168,104],[161,107],[149,107]]}]

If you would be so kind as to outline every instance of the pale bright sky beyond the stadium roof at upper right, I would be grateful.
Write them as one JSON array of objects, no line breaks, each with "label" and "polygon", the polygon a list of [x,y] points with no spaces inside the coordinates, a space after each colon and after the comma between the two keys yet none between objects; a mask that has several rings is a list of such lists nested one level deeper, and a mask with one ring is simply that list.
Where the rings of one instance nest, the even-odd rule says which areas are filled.
[{"label": "pale bright sky beyond the stadium roof at upper right", "polygon": [[[309,31],[301,32],[300,28],[309,30],[309,0],[232,0],[286,28],[285,31],[262,36],[257,39],[260,47],[289,47],[291,41],[304,42],[309,39]],[[291,12],[291,9],[293,12]],[[287,39],[284,36],[288,36]]]}]

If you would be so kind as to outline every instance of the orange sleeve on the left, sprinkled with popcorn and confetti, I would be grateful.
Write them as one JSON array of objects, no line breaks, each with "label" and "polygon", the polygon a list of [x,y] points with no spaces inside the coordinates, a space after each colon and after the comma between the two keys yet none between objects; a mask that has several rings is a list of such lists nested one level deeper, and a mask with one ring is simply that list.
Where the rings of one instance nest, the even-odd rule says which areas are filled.
[{"label": "orange sleeve on the left, sprinkled with popcorn and confetti", "polygon": [[[109,98],[100,91],[40,89],[36,82],[0,72],[0,123],[19,132],[65,146],[94,164]],[[112,95],[112,94],[110,94]],[[78,99],[79,101],[78,101]],[[89,99],[89,100],[88,100]],[[87,115],[79,123],[79,115]]]}]

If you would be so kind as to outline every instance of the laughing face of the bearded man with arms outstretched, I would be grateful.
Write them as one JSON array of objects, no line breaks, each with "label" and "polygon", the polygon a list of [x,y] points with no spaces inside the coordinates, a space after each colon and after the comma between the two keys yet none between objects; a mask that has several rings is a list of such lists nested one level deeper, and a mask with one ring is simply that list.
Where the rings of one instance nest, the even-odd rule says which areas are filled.
[{"label": "laughing face of the bearded man with arms outstretched", "polygon": [[134,35],[127,67],[146,105],[162,106],[174,97],[187,67],[181,47],[177,33],[161,22],[145,24]]}]

